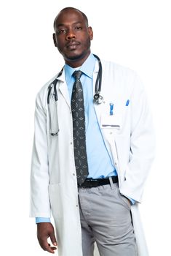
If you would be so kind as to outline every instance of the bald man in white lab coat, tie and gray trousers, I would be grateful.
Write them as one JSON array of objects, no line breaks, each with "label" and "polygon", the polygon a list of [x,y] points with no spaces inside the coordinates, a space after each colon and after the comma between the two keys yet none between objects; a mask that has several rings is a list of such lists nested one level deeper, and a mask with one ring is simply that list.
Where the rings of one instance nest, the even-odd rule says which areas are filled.
[{"label": "bald man in white lab coat, tie and gray trousers", "polygon": [[39,244],[51,253],[57,246],[59,256],[93,256],[95,242],[100,256],[148,256],[138,203],[154,131],[143,85],[132,70],[102,61],[103,99],[93,102],[100,64],[86,15],[67,7],[54,29],[65,65],[36,97],[31,217]]}]

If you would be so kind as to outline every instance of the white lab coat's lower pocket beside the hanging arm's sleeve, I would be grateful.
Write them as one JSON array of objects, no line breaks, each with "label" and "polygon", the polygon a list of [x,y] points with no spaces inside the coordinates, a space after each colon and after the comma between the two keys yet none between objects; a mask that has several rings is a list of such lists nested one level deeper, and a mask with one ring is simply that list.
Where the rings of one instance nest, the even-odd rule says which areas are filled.
[{"label": "white lab coat's lower pocket beside the hanging arm's sleeve", "polygon": [[59,184],[49,184],[49,201],[52,210],[52,216],[58,219],[62,217],[61,213],[61,186]]}]

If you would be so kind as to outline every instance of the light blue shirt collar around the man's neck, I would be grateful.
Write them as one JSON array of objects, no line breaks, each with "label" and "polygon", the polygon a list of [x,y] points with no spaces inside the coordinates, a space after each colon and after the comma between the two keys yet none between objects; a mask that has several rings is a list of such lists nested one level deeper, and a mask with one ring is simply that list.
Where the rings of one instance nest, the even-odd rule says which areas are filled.
[{"label": "light blue shirt collar around the man's neck", "polygon": [[64,69],[65,69],[65,79],[70,80],[71,76],[73,75],[73,72],[75,70],[81,70],[81,72],[84,72],[85,75],[88,77],[92,78],[92,73],[95,69],[95,56],[93,56],[92,53],[90,53],[90,56],[84,61],[84,63],[81,65],[79,68],[73,68],[69,66],[68,64],[65,64]]}]

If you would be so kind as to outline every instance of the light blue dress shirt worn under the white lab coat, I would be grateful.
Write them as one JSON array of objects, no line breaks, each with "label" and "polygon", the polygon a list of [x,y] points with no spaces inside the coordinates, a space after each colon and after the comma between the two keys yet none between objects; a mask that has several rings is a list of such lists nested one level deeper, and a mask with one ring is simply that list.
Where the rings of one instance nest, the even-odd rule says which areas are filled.
[{"label": "light blue dress shirt worn under the white lab coat", "polygon": [[[98,118],[95,113],[95,107],[93,103],[93,84],[92,74],[95,68],[95,57],[90,54],[84,64],[81,67],[73,68],[65,64],[65,80],[68,86],[68,93],[71,99],[73,83],[73,72],[75,70],[81,70],[81,84],[84,94],[84,109],[85,109],[85,127],[86,127],[86,148],[87,148],[87,161],[89,167],[88,178],[106,178],[110,176],[117,176],[114,168],[114,163],[111,159],[103,136],[98,124]],[[132,203],[134,201],[132,200]],[[49,222],[48,218],[36,218],[36,223]]]}]

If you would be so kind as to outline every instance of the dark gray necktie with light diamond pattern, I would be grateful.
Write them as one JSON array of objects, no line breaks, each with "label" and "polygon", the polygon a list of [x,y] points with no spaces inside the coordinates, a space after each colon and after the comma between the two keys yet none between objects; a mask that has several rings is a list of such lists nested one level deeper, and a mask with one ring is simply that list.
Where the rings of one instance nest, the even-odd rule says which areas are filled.
[{"label": "dark gray necktie with light diamond pattern", "polygon": [[73,77],[76,81],[73,83],[71,97],[71,110],[73,116],[73,148],[76,176],[79,185],[85,181],[89,174],[85,138],[84,97],[80,81],[81,75],[82,72],[80,70],[73,72]]}]

